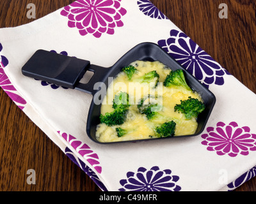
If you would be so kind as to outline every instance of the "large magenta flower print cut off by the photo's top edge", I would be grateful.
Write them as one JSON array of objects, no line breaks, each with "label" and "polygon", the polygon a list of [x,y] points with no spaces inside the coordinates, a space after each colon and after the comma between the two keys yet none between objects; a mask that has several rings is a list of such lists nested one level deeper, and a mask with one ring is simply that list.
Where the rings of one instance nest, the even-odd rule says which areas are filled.
[{"label": "large magenta flower print cut off by the photo's top edge", "polygon": [[114,34],[115,27],[122,27],[121,18],[127,11],[122,0],[78,0],[65,6],[61,15],[68,17],[68,27],[76,27],[82,36],[93,34],[100,38],[103,33]]}]

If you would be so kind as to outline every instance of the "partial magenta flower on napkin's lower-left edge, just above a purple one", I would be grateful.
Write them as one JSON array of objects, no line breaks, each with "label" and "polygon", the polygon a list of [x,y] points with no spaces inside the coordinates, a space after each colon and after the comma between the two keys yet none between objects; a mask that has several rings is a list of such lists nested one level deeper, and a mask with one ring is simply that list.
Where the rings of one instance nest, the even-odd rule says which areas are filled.
[{"label": "partial magenta flower on napkin's lower-left edge, just above a purple one", "polygon": [[73,147],[78,152],[78,154],[83,156],[98,173],[101,173],[102,167],[99,165],[99,156],[95,154],[95,152],[93,152],[93,150],[88,145],[77,140],[72,135],[61,133],[60,131],[58,131],[58,133],[71,145],[71,147]]}]

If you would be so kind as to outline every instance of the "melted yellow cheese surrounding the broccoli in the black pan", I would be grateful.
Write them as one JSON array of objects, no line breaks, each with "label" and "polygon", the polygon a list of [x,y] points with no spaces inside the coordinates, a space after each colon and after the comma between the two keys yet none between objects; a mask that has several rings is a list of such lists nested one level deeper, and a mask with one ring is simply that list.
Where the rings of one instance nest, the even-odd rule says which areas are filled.
[{"label": "melted yellow cheese surrounding the broccoli in the black pan", "polygon": [[[107,126],[99,124],[97,126],[96,137],[99,142],[120,142],[127,140],[144,140],[148,138],[156,138],[154,129],[161,126],[164,122],[173,120],[176,122],[175,136],[193,135],[197,129],[196,119],[188,120],[184,114],[174,111],[174,106],[180,103],[180,100],[186,100],[189,96],[202,101],[200,95],[193,91],[188,91],[182,87],[164,87],[163,82],[166,76],[172,71],[159,61],[145,62],[136,61],[131,64],[138,71],[132,76],[132,80],[128,80],[127,75],[121,72],[113,80],[108,87],[107,94],[101,106],[101,113],[113,112],[113,98],[116,94],[127,92],[129,94],[129,103],[133,104],[129,107],[126,120],[121,126]],[[146,73],[156,70],[159,74],[160,84],[155,87],[153,84],[141,83],[140,78]],[[152,120],[148,120],[146,115],[138,111],[138,103],[145,96],[157,96],[159,106],[159,114]],[[128,130],[128,133],[120,138],[116,134],[116,128]]]}]

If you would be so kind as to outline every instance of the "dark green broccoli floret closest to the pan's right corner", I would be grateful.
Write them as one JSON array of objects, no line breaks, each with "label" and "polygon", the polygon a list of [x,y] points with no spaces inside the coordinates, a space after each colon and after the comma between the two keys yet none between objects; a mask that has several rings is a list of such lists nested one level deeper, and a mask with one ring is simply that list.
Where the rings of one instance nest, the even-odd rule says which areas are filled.
[{"label": "dark green broccoli floret closest to the pan's right corner", "polygon": [[180,105],[175,105],[175,112],[184,113],[186,119],[192,119],[193,117],[198,117],[199,113],[205,110],[205,105],[201,101],[189,96],[188,100],[180,100]]}]

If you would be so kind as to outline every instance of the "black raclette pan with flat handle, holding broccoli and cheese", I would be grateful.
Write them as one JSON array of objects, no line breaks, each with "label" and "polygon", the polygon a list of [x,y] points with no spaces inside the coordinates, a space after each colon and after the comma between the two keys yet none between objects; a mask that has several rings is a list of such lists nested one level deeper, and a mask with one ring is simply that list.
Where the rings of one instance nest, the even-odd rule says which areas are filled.
[{"label": "black raclette pan with flat handle, holding broccoli and cheese", "polygon": [[[204,112],[198,116],[198,128],[195,135],[184,135],[179,137],[197,136],[202,134],[207,121],[211,115],[212,109],[216,103],[216,98],[211,91],[202,85],[195,77],[190,75],[186,69],[182,68],[180,64],[175,61],[170,55],[156,45],[155,43],[141,43],[127,52],[121,59],[119,59],[110,68],[102,68],[90,64],[89,61],[77,59],[76,57],[68,57],[45,50],[37,50],[35,54],[29,59],[22,68],[22,74],[27,77],[32,77],[37,80],[43,80],[52,84],[61,85],[69,89],[77,89],[95,96],[99,89],[95,90],[93,87],[97,82],[105,84],[108,88],[108,78],[116,77],[121,69],[131,64],[134,61],[160,61],[172,70],[183,69],[187,83],[191,89],[199,92],[205,103]],[[86,71],[93,71],[94,75],[88,84],[80,82]],[[102,98],[103,99],[103,98]],[[97,125],[100,124],[100,107],[95,103],[91,103],[88,113],[88,120],[86,124],[87,135],[97,143],[101,143],[96,138]],[[147,140],[157,140],[147,139]],[[136,142],[141,140],[136,140]],[[135,141],[125,141],[135,142]],[[111,142],[119,143],[119,142]],[[106,144],[106,143],[104,143]]]}]

